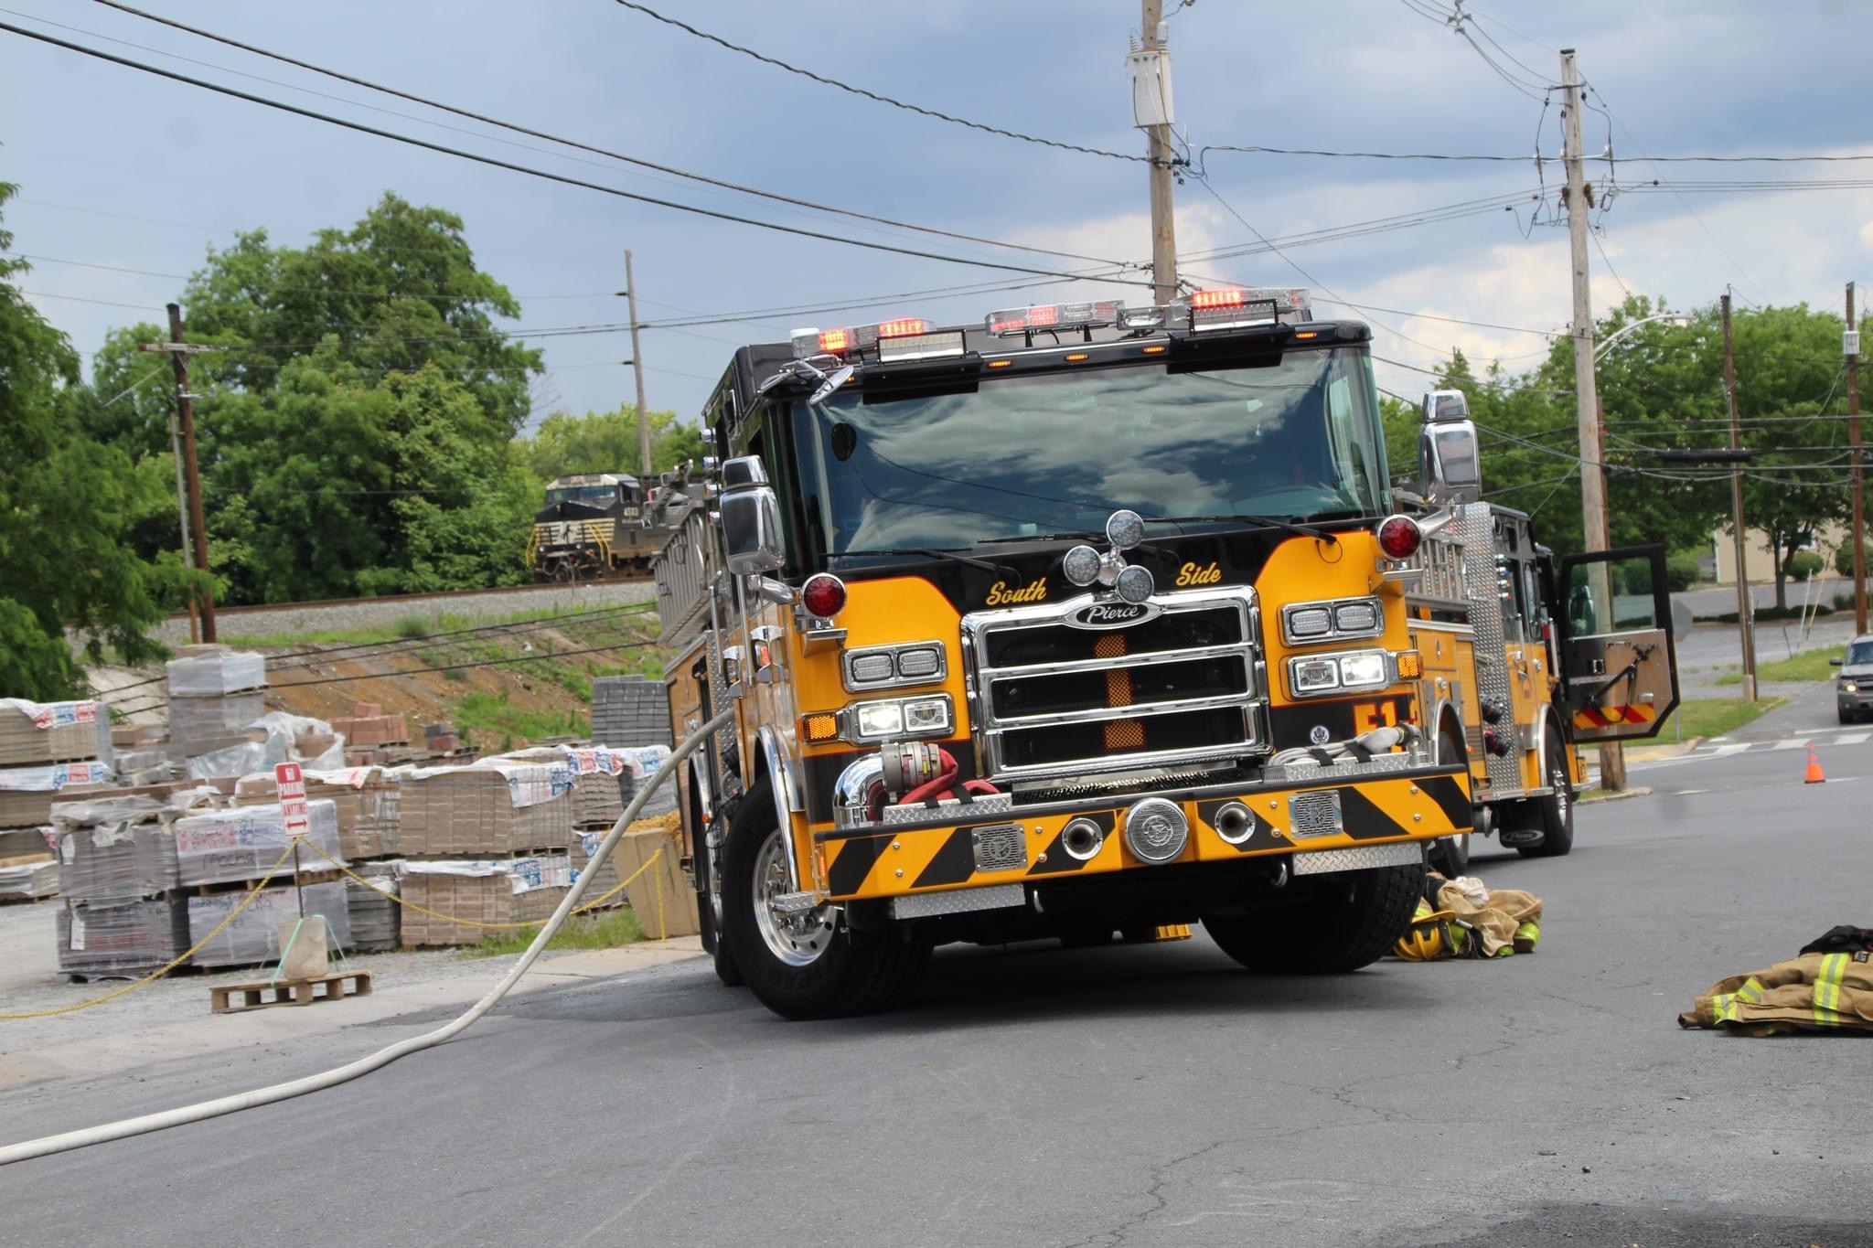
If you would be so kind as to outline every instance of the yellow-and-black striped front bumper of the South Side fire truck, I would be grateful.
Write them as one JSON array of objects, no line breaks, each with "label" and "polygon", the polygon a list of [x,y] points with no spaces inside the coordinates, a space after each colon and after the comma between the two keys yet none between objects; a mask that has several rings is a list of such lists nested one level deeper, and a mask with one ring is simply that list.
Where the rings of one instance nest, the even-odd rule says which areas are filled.
[{"label": "yellow-and-black striped front bumper of the South Side fire truck", "polygon": [[[1319,812],[1334,805],[1337,820],[1322,831],[1319,820],[1296,834],[1294,797]],[[1208,786],[1156,793],[1101,795],[1073,803],[1015,806],[972,816],[963,803],[944,803],[929,818],[893,825],[862,825],[815,834],[813,866],[833,902],[897,898],[950,889],[1045,883],[1068,878],[1133,872],[1144,883],[1158,866],[1137,859],[1122,834],[1126,810],[1146,797],[1176,803],[1189,821],[1189,840],[1171,863],[1240,863],[1247,857],[1356,849],[1388,842],[1429,842],[1470,831],[1470,775],[1463,767],[1369,771],[1360,765],[1320,769],[1305,780],[1259,786]],[[1217,812],[1240,803],[1253,831],[1234,844],[1216,829]],[[1075,818],[1101,825],[1105,838],[1090,859],[1064,848],[1064,829]],[[993,846],[983,863],[983,846]],[[1341,855],[1339,861],[1350,861]],[[1300,868],[1296,868],[1300,870]]]}]

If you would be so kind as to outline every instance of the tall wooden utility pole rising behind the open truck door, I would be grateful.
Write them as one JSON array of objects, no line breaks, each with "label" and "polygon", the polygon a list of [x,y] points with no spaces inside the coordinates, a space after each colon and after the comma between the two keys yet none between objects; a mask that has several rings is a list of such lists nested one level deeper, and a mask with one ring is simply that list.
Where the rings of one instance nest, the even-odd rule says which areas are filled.
[{"label": "tall wooden utility pole rising behind the open truck door", "polygon": [[[1586,268],[1586,172],[1581,165],[1581,71],[1573,49],[1560,51],[1560,82],[1566,88],[1564,150],[1568,165],[1568,251],[1573,269],[1573,415],[1581,443],[1581,535],[1586,550],[1613,544],[1607,530],[1607,475],[1600,453],[1600,389],[1594,382],[1594,297]],[[1605,565],[1596,569],[1596,589],[1611,606],[1613,586]],[[1600,786],[1611,793],[1626,788],[1626,752],[1618,741],[1600,747]]]}]

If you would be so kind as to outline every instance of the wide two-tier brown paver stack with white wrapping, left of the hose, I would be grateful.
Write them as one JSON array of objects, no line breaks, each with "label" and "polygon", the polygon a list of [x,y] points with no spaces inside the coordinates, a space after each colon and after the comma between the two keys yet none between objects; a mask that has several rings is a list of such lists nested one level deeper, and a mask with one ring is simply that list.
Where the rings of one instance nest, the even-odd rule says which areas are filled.
[{"label": "wide two-tier brown paver stack with white wrapping, left of the hose", "polygon": [[573,773],[564,760],[397,775],[405,949],[478,945],[502,930],[479,924],[553,915],[571,889]]}]

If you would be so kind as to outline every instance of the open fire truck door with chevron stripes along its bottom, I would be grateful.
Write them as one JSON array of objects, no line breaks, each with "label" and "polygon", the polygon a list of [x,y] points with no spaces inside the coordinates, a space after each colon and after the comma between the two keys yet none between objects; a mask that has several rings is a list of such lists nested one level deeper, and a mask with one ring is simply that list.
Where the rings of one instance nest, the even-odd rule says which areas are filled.
[{"label": "open fire truck door with chevron stripes along its bottom", "polygon": [[1678,705],[1663,546],[1560,561],[1560,674],[1575,741],[1658,735]]}]

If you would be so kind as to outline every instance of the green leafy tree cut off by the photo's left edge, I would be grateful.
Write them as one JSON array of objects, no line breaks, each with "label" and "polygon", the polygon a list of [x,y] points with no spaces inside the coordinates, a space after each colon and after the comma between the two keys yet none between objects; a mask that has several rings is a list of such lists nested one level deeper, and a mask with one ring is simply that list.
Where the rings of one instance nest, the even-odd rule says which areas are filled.
[{"label": "green leafy tree cut off by the photo's left edge", "polygon": [[[13,195],[0,183],[0,206]],[[0,249],[11,245],[0,230]],[[131,660],[159,655],[144,632],[184,573],[125,544],[150,479],[79,432],[90,402],[79,357],[9,281],[26,268],[0,256],[0,690],[51,700],[84,690],[67,625],[94,660],[107,644]]]}]

